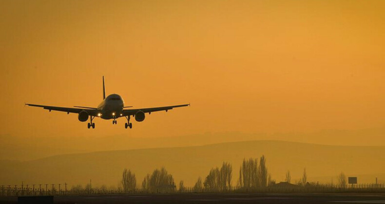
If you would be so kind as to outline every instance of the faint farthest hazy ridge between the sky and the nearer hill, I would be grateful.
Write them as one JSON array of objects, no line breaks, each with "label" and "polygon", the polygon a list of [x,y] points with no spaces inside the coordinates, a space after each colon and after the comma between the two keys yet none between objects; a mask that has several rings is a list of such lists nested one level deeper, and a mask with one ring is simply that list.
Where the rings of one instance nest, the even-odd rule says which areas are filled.
[{"label": "faint farthest hazy ridge between the sky and the nearer hill", "polygon": [[[285,140],[341,146],[385,146],[385,128],[362,130],[322,130],[311,133],[204,133],[158,137],[131,135],[106,136],[19,136],[0,135],[0,160],[32,160],[68,153],[133,150],[145,148],[189,147],[252,140]],[[339,139],[335,139],[339,138]],[[365,138],[365,139],[363,139]]]}]

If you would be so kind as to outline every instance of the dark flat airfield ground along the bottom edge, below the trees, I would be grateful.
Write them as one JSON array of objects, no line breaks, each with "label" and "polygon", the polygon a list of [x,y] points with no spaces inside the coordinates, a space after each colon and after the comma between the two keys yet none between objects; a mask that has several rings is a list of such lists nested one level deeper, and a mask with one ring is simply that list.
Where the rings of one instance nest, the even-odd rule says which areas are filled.
[{"label": "dark flat airfield ground along the bottom edge, below the trees", "polygon": [[[17,197],[0,197],[16,204]],[[385,204],[385,194],[370,193],[189,193],[58,196],[55,204]]]}]

